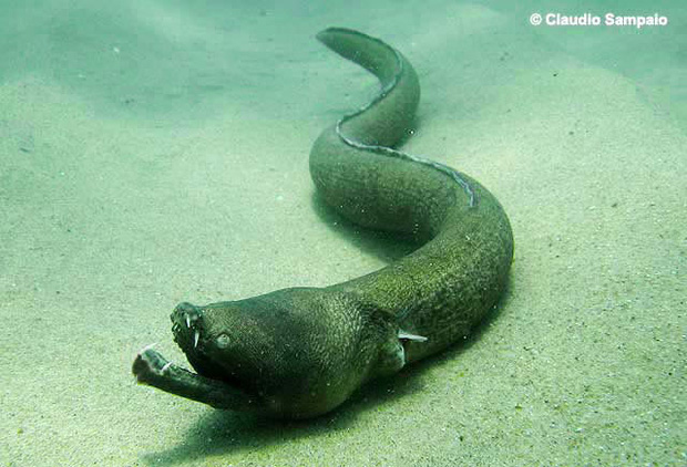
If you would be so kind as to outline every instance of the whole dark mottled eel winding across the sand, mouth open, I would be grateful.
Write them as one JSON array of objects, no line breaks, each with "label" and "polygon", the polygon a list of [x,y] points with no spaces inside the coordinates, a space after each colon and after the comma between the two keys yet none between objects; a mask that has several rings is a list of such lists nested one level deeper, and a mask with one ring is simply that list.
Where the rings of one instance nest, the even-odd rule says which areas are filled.
[{"label": "whole dark mottled eel winding across the sand, mouth open", "polygon": [[413,68],[353,30],[330,28],[317,38],[381,83],[368,105],[315,142],[317,191],[350,221],[410,235],[421,246],[327,288],[181,303],[172,331],[197,373],[148,346],[133,364],[139,383],[216,408],[312,417],[366,382],[460,341],[503,292],[513,237],[499,201],[462,173],[392,149],[411,133],[420,98]]}]

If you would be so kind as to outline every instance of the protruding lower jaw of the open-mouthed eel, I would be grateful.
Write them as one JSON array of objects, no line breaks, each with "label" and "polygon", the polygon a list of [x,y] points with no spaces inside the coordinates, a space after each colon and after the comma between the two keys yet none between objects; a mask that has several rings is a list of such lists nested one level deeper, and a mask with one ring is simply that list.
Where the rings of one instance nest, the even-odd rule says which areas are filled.
[{"label": "protruding lower jaw of the open-mouthed eel", "polygon": [[152,347],[153,345],[148,345],[142,349],[134,360],[132,371],[139,384],[157,387],[215,408],[253,413],[266,411],[266,404],[256,395],[189,372],[167,361]]}]

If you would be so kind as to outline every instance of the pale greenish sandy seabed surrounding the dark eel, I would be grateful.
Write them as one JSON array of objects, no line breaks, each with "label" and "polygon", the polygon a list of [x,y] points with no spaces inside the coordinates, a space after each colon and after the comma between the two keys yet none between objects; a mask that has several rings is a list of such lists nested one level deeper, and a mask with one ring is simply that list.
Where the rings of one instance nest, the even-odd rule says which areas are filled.
[{"label": "pale greenish sandy seabed surrounding the dark eel", "polygon": [[[0,465],[687,464],[687,13],[601,2],[16,2],[0,15]],[[607,4],[607,3],[604,3]],[[624,11],[621,11],[624,10]],[[326,286],[389,242],[315,200],[312,141],[376,92],[314,35],[419,72],[404,151],[470,174],[515,236],[464,345],[315,421],[136,386],[180,301]]]}]

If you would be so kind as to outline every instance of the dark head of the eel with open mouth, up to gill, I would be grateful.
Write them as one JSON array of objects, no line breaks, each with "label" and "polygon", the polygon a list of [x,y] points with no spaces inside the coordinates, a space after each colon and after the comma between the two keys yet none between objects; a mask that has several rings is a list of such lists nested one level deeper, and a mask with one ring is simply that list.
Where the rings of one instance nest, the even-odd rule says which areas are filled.
[{"label": "dark head of the eel with open mouth, up to gill", "polygon": [[139,383],[217,408],[305,418],[341,404],[404,364],[389,313],[331,289],[293,288],[172,313],[174,340],[197,373],[146,347]]}]

